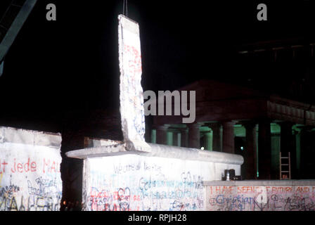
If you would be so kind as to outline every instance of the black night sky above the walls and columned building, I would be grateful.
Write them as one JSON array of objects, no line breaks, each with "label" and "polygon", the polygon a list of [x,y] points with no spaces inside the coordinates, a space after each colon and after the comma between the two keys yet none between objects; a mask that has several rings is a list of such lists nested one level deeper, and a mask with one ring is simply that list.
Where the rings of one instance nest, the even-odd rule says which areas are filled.
[{"label": "black night sky above the walls and columned building", "polygon": [[[143,89],[236,77],[240,44],[308,38],[311,1],[129,0],[140,25]],[[46,20],[46,4],[57,21]],[[257,4],[268,21],[257,21]],[[117,15],[122,1],[39,0],[15,39],[0,77],[1,117],[54,117],[66,110],[119,105]]]}]

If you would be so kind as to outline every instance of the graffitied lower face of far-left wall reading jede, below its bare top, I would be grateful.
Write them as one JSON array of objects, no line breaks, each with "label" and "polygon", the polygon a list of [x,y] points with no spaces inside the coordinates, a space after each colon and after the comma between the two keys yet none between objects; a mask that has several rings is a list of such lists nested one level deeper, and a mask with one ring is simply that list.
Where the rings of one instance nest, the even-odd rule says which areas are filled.
[{"label": "graffitied lower face of far-left wall reading jede, below its bare top", "polygon": [[56,211],[62,184],[59,151],[0,146],[0,211]]}]

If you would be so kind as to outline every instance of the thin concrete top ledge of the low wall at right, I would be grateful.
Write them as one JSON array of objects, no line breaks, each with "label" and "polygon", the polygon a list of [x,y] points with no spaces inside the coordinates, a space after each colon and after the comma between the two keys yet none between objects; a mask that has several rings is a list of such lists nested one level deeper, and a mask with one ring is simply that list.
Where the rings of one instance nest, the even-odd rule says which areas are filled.
[{"label": "thin concrete top ledge of the low wall at right", "polygon": [[204,186],[315,186],[315,180],[203,181]]}]

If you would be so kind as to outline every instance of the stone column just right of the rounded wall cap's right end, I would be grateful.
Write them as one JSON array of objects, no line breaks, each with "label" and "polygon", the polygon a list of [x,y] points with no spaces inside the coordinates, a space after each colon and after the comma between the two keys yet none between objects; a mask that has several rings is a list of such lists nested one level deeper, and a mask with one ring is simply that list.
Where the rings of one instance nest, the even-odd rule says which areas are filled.
[{"label": "stone column just right of the rounded wall cap's right end", "polygon": [[256,179],[257,178],[257,163],[256,163],[256,129],[255,122],[243,123],[246,129],[246,141],[245,141],[245,152],[244,152],[244,179]]}]

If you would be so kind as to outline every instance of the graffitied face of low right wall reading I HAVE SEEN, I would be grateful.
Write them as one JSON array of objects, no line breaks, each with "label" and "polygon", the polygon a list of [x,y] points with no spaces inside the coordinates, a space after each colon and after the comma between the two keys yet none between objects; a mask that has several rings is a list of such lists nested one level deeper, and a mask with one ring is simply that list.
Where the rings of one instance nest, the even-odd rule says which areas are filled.
[{"label": "graffitied face of low right wall reading I HAVE SEEN", "polygon": [[315,186],[207,186],[207,210],[314,211]]}]

